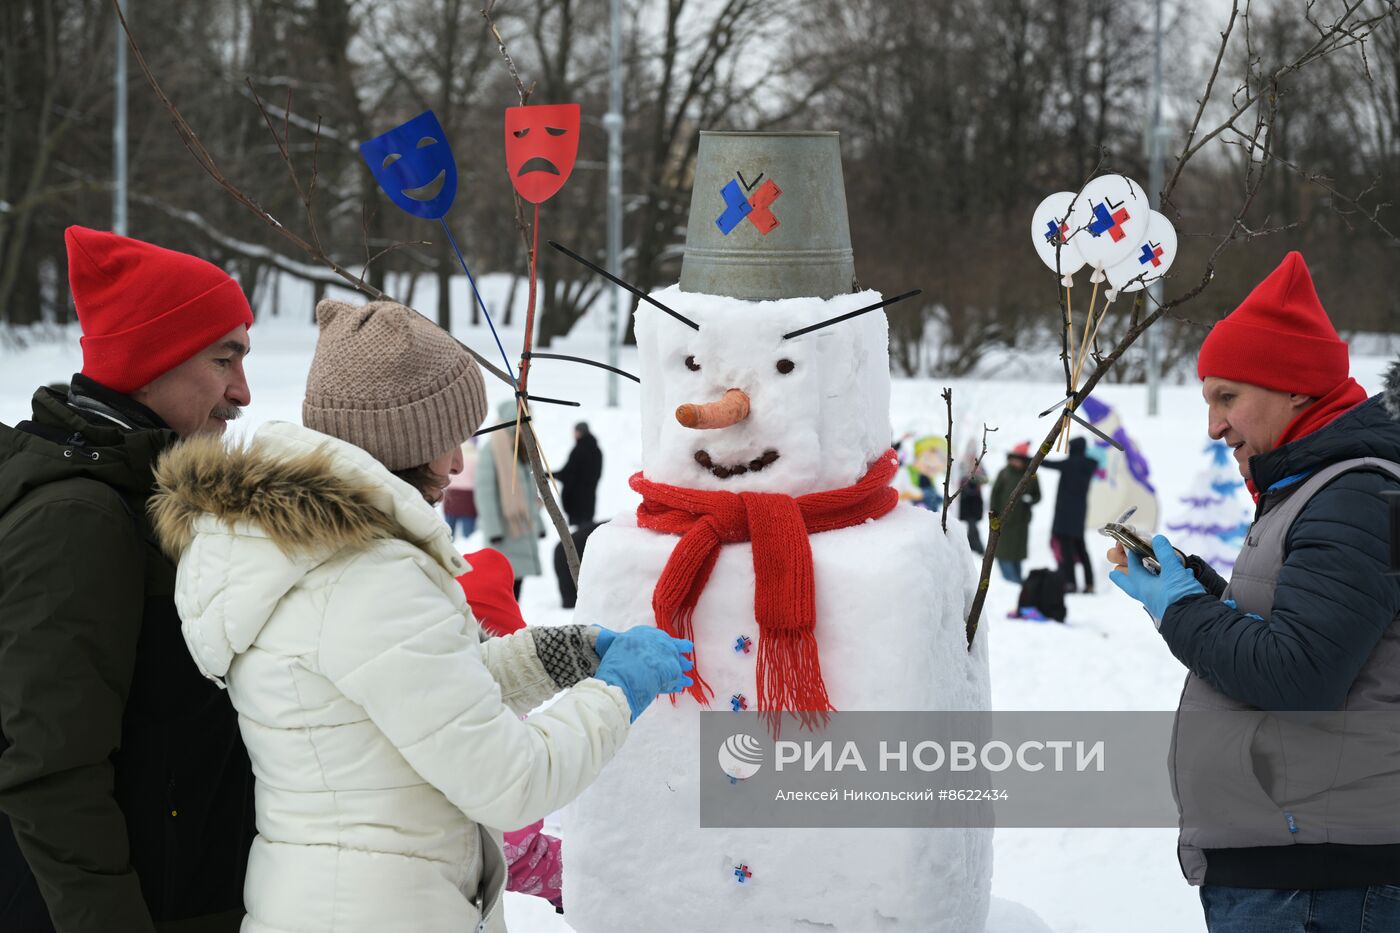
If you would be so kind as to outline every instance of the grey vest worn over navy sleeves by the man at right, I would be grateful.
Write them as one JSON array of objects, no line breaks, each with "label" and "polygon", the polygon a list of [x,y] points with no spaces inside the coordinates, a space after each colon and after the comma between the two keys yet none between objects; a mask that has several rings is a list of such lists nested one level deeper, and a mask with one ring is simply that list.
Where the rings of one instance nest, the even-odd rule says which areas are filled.
[{"label": "grey vest worn over navy sleeves by the man at right", "polygon": [[[1309,476],[1250,528],[1224,598],[1268,619],[1294,520],[1327,483],[1362,468],[1400,479],[1400,464],[1372,457]],[[1340,710],[1264,713],[1189,674],[1170,770],[1182,827],[1177,856],[1191,884],[1205,880],[1203,849],[1400,843],[1400,618]]]}]

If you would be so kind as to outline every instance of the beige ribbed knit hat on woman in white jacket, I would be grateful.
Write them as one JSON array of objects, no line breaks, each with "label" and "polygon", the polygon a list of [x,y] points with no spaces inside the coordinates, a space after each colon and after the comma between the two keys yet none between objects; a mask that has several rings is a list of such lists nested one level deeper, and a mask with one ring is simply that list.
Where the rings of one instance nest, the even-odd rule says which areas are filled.
[{"label": "beige ribbed knit hat on woman in white jacket", "polygon": [[321,338],[302,423],[389,469],[455,450],[486,417],[482,370],[456,340],[402,304],[316,304]]}]

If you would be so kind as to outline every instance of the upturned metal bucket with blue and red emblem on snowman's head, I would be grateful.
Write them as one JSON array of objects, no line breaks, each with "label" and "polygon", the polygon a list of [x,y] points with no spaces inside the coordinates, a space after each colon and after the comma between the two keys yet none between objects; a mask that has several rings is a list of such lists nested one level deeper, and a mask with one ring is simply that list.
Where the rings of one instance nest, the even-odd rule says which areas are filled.
[{"label": "upturned metal bucket with blue and red emblem on snowman's head", "polygon": [[858,291],[840,134],[701,130],[680,290],[745,300]]}]

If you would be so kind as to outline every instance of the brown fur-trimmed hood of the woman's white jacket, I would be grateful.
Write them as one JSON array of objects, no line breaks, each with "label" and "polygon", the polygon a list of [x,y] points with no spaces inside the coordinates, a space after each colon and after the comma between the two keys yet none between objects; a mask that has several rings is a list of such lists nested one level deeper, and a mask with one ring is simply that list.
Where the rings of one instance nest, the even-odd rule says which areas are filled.
[{"label": "brown fur-trimmed hood of the woman's white jacket", "polygon": [[469,567],[447,523],[370,454],[272,422],[248,443],[189,438],[155,464],[151,524],[181,563],[175,602],[206,675],[223,677],[279,601],[319,566],[381,542],[449,576]]}]

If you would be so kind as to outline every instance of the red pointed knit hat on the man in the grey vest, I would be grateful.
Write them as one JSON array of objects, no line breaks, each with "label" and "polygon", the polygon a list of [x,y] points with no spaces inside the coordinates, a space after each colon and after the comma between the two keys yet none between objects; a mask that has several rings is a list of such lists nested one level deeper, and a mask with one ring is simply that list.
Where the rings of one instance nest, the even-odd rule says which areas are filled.
[{"label": "red pointed knit hat on the man in the grey vest", "polygon": [[1323,396],[1351,371],[1347,345],[1317,300],[1301,252],[1260,282],[1205,336],[1196,375]]}]

